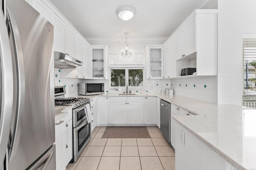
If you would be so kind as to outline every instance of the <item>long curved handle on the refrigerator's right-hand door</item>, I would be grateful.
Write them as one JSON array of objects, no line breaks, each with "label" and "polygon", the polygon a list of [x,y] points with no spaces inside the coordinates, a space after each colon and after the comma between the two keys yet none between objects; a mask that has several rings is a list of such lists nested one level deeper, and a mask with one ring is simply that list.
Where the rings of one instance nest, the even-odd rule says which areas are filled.
[{"label": "long curved handle on the refrigerator's right-hand door", "polygon": [[20,34],[17,26],[14,13],[10,8],[8,10],[8,23],[10,32],[13,36],[14,54],[16,57],[17,67],[17,106],[16,106],[16,118],[14,123],[14,131],[12,134],[12,141],[10,143],[9,162],[15,157],[20,142],[20,134],[22,129],[22,119],[24,115],[24,96],[25,96],[25,74],[24,74],[24,60],[22,53],[22,46],[20,41]]}]

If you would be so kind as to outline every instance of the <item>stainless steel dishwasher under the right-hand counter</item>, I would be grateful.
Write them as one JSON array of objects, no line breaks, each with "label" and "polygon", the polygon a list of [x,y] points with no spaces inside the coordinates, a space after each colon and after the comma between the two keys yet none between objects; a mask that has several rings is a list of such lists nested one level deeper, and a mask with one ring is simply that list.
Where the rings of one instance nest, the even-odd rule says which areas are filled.
[{"label": "stainless steel dishwasher under the right-hand counter", "polygon": [[160,131],[166,141],[171,141],[171,104],[161,100],[160,102]]}]

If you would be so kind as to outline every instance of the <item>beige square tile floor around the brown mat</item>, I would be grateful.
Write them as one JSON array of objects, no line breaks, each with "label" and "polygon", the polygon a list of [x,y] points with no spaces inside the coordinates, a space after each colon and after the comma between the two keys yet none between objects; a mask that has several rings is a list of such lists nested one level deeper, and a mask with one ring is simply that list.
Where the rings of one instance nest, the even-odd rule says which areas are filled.
[{"label": "beige square tile floor around the brown mat", "polygon": [[157,127],[151,138],[102,139],[106,127],[95,127],[92,139],[66,170],[174,170],[175,153]]}]

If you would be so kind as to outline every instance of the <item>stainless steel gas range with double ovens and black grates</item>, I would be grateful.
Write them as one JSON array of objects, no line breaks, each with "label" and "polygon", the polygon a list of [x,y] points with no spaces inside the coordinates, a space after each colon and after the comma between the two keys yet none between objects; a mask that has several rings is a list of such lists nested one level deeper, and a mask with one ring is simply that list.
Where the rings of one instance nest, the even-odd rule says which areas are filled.
[{"label": "stainless steel gas range with double ovens and black grates", "polygon": [[55,87],[55,106],[73,106],[73,159],[76,162],[91,139],[91,125],[86,118],[86,107],[90,109],[89,98],[65,98],[64,86]]}]

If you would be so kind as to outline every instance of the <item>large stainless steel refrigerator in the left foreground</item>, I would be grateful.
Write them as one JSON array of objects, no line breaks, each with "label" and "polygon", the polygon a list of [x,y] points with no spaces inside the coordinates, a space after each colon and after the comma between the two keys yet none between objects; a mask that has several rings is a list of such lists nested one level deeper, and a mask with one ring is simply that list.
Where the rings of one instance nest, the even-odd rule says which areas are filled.
[{"label": "large stainless steel refrigerator in the left foreground", "polygon": [[0,169],[55,170],[53,25],[24,0],[0,5]]}]

